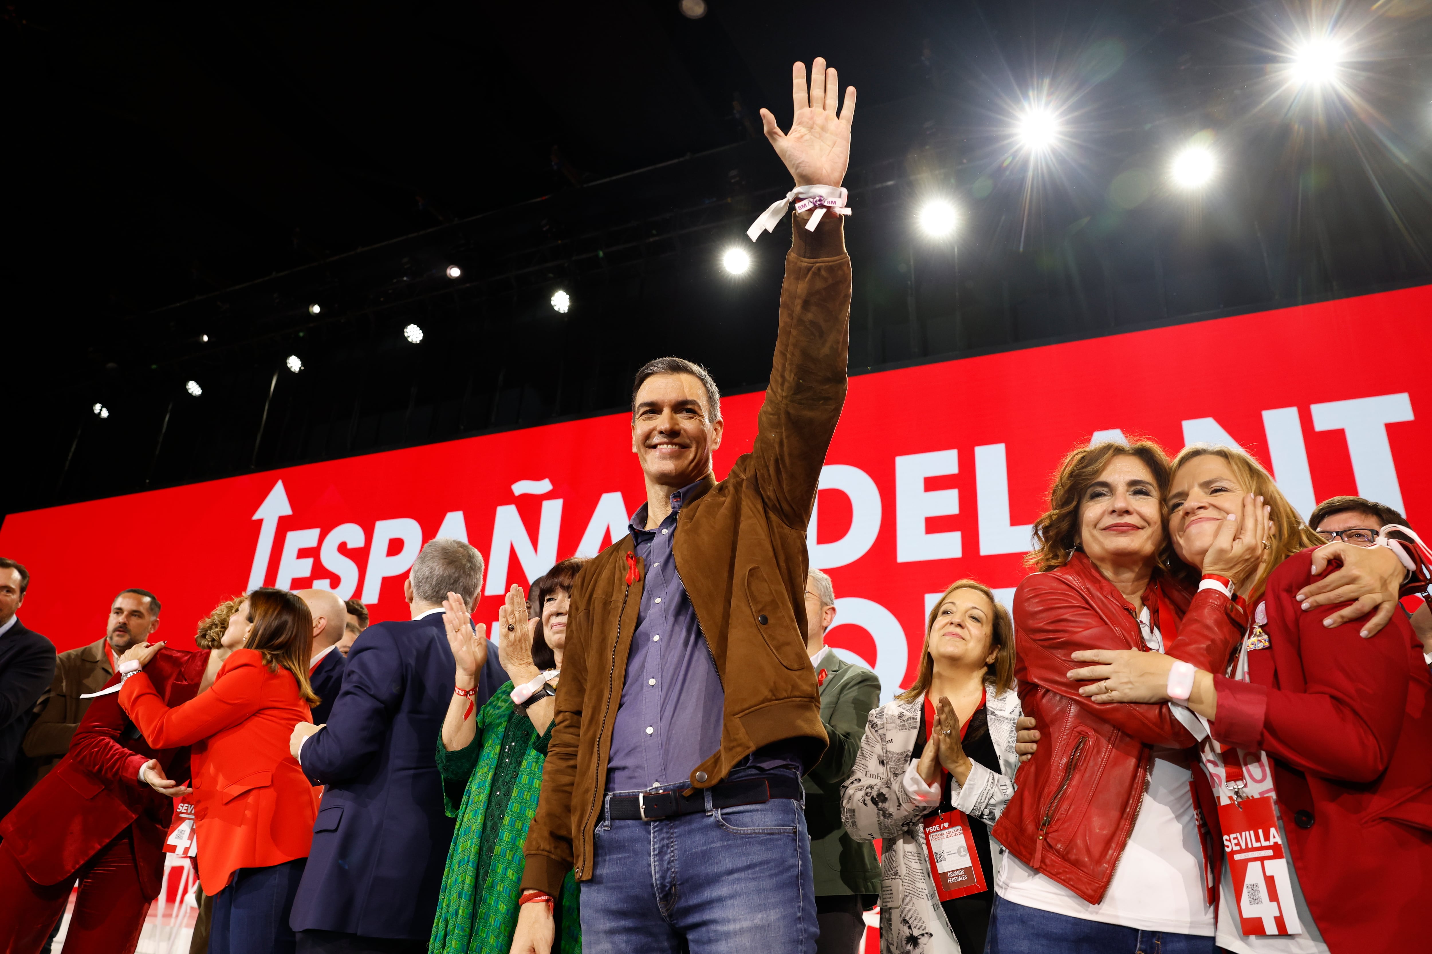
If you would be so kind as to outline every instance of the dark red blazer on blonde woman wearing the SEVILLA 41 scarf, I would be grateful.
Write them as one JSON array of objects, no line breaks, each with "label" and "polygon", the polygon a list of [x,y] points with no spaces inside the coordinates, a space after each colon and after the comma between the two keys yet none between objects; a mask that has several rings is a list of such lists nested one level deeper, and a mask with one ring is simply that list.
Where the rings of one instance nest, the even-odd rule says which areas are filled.
[{"label": "dark red blazer on blonde woman wearing the SEVILLA 41 scarf", "polygon": [[1269,648],[1249,679],[1214,677],[1213,738],[1274,758],[1277,810],[1297,881],[1335,953],[1426,950],[1432,884],[1432,684],[1396,614],[1370,639],[1337,606],[1303,612],[1312,551],[1267,581]]}]

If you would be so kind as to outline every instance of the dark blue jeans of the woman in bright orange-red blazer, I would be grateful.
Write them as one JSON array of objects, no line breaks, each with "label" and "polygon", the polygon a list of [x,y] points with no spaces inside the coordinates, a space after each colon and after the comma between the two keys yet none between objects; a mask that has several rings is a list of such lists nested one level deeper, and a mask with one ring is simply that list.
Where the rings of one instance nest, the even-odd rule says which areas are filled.
[{"label": "dark blue jeans of the woman in bright orange-red blazer", "polygon": [[266,868],[239,868],[213,895],[209,954],[294,954],[288,915],[308,858]]}]

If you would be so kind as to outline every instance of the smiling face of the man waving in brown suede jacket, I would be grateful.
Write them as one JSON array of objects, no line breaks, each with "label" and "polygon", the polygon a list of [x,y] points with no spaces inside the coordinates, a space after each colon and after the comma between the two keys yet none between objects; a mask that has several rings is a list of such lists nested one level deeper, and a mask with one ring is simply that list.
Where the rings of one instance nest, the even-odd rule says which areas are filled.
[{"label": "smiling face of the man waving in brown suede jacket", "polygon": [[647,485],[683,488],[712,469],[722,421],[710,419],[706,388],[692,375],[653,375],[636,393],[632,451]]}]

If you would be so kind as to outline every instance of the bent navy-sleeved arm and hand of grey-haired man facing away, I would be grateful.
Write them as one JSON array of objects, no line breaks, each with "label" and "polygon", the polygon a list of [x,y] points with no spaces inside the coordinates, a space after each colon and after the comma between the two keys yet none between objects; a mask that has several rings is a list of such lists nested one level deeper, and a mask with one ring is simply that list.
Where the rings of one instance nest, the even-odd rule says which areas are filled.
[{"label": "bent navy-sleeved arm and hand of grey-haired man facing away", "polygon": [[408,665],[387,624],[362,631],[344,664],[344,688],[334,701],[328,722],[309,727],[299,722],[298,732],[308,737],[294,748],[299,767],[309,781],[332,785],[358,775],[382,749],[392,718],[402,704]]}]

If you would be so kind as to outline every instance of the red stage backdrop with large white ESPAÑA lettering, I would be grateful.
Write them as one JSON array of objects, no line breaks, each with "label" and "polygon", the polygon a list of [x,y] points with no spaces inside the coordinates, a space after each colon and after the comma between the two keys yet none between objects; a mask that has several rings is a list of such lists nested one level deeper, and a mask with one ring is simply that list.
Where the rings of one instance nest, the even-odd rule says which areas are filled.
[{"label": "red stage backdrop with large white ESPA\u00d1A lettering", "polygon": [[[832,645],[886,699],[908,685],[927,601],[964,576],[1012,592],[1060,458],[1107,433],[1242,443],[1305,515],[1360,493],[1425,519],[1429,308],[1432,286],[852,378],[811,531],[839,599]],[[760,402],[726,399],[717,476]],[[20,616],[60,649],[100,638],[125,586],[159,595],[160,634],[186,646],[261,584],[407,618],[402,579],[434,536],[487,558],[491,621],[511,584],[626,532],[643,499],[630,445],[611,415],[11,513],[0,554],[29,566]]]}]

